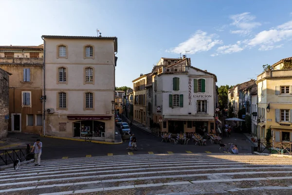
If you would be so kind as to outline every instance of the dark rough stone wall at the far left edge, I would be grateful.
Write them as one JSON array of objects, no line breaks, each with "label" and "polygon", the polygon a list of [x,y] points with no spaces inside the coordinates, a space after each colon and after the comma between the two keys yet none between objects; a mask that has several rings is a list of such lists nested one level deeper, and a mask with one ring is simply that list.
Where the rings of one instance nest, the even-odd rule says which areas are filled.
[{"label": "dark rough stone wall at the far left edge", "polygon": [[7,137],[9,115],[9,73],[0,69],[0,139]]}]

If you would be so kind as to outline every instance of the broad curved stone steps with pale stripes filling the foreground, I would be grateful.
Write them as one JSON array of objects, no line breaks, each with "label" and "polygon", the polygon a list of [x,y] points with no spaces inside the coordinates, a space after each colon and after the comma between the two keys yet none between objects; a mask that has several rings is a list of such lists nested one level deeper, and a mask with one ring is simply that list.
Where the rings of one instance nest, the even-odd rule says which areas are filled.
[{"label": "broad curved stone steps with pale stripes filling the foreground", "polygon": [[[63,158],[33,165],[1,171],[0,194],[165,195],[292,189],[292,158],[287,157],[172,153]],[[282,188],[274,189],[278,182]]]}]

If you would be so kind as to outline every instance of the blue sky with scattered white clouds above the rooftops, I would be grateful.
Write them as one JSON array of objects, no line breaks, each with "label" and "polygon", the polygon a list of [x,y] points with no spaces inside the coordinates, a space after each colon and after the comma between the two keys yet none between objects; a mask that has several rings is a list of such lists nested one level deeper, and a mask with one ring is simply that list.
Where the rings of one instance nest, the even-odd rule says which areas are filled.
[{"label": "blue sky with scattered white clouds above the rooftops", "polygon": [[291,7],[289,0],[0,0],[0,45],[96,36],[98,28],[118,38],[118,87],[185,51],[192,66],[217,75],[218,86],[234,85],[292,56]]}]

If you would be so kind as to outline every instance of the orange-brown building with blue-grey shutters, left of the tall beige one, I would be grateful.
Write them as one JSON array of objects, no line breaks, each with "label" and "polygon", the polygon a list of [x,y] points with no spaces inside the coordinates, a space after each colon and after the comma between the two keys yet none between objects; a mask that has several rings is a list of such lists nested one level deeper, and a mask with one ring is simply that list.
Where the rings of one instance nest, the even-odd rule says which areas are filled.
[{"label": "orange-brown building with blue-grey shutters, left of the tall beige one", "polygon": [[12,74],[8,129],[42,134],[43,45],[0,46],[0,68]]}]

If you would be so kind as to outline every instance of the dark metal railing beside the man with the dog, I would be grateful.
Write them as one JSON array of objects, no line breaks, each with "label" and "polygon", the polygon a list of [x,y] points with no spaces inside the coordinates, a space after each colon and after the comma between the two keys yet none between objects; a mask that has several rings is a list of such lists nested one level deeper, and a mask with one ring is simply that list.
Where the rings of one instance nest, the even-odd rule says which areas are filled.
[{"label": "dark metal railing beside the man with the dog", "polygon": [[0,165],[8,165],[14,163],[15,160],[19,159],[20,162],[24,160],[30,160],[30,145],[26,148],[0,150]]}]

